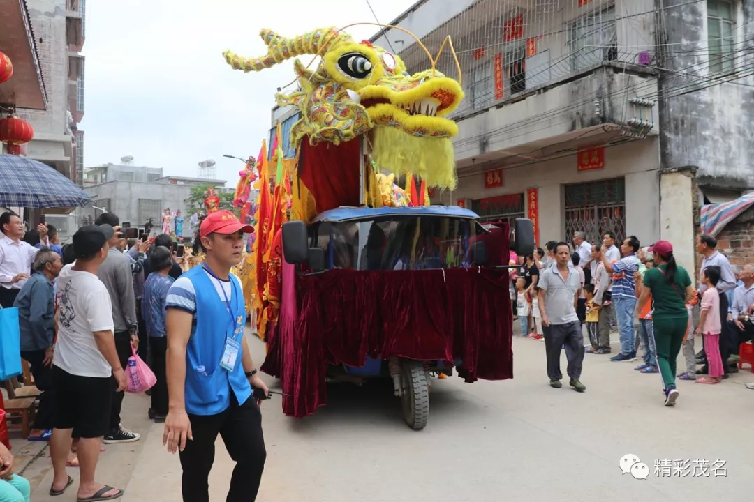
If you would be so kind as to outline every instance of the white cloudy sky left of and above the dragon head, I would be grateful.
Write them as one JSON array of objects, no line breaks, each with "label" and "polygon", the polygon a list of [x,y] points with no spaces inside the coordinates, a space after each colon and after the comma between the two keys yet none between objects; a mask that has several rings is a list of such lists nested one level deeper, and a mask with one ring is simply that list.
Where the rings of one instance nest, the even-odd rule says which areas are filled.
[{"label": "white cloudy sky left of and above the dragon head", "polygon": [[[372,0],[372,7],[386,24],[413,3]],[[87,2],[84,166],[130,154],[137,166],[196,176],[198,163],[213,157],[218,178],[234,186],[243,164],[222,154],[256,157],[275,90],[293,80],[293,60],[244,74],[222,52],[262,56],[261,28],[293,37],[359,22],[374,22],[366,0]],[[377,30],[348,32],[363,40]]]}]

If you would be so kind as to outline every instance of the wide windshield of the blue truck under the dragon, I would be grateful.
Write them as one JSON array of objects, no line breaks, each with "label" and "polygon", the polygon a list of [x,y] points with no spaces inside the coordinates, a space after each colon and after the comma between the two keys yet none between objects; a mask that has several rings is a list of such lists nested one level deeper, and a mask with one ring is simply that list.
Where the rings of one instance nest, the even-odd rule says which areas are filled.
[{"label": "wide windshield of the blue truck under the dragon", "polygon": [[328,269],[450,269],[468,266],[476,228],[437,216],[323,222],[310,227],[309,245],[325,251]]}]

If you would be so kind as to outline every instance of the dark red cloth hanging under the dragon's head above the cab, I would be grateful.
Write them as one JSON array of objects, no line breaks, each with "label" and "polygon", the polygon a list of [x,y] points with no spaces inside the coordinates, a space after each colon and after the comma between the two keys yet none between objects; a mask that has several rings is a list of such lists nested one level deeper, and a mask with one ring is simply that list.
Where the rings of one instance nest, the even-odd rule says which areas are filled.
[{"label": "dark red cloth hanging under the dragon's head above the cab", "polygon": [[299,179],[314,196],[317,213],[359,205],[359,145],[359,138],[338,146],[325,141],[311,146],[302,139]]}]

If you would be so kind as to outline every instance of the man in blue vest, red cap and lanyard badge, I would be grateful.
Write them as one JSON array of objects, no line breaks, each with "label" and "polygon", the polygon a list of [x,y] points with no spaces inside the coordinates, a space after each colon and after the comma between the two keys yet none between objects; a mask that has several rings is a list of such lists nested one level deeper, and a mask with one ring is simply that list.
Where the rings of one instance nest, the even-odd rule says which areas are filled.
[{"label": "man in blue vest, red cap and lanyard badge", "polygon": [[236,462],[228,502],[255,500],[265,467],[262,414],[252,388],[268,388],[244,337],[246,303],[241,281],[244,233],[253,232],[230,211],[201,224],[201,266],[181,275],[167,292],[167,394],[162,441],[179,451],[184,502],[208,502],[217,434]]}]

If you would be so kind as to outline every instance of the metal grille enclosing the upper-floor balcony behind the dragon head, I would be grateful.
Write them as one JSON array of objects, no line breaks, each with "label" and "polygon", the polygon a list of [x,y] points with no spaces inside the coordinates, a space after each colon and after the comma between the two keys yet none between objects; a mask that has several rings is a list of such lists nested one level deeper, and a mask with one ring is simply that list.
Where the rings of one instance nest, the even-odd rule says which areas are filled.
[{"label": "metal grille enclosing the upper-floor balcony behind the dragon head", "polygon": [[[608,60],[636,63],[642,47],[621,47],[621,30],[639,30],[654,20],[624,14],[635,11],[636,0],[478,0],[452,19],[421,37],[433,57],[451,35],[463,71],[468,96],[453,112],[458,120],[516,94],[566,80],[584,68]],[[630,7],[630,8],[629,8]],[[617,13],[627,17],[616,23]],[[409,73],[431,67],[427,54],[410,37],[388,30],[393,50]],[[384,39],[379,40],[390,50]],[[437,71],[457,77],[455,59],[446,45]]]}]

